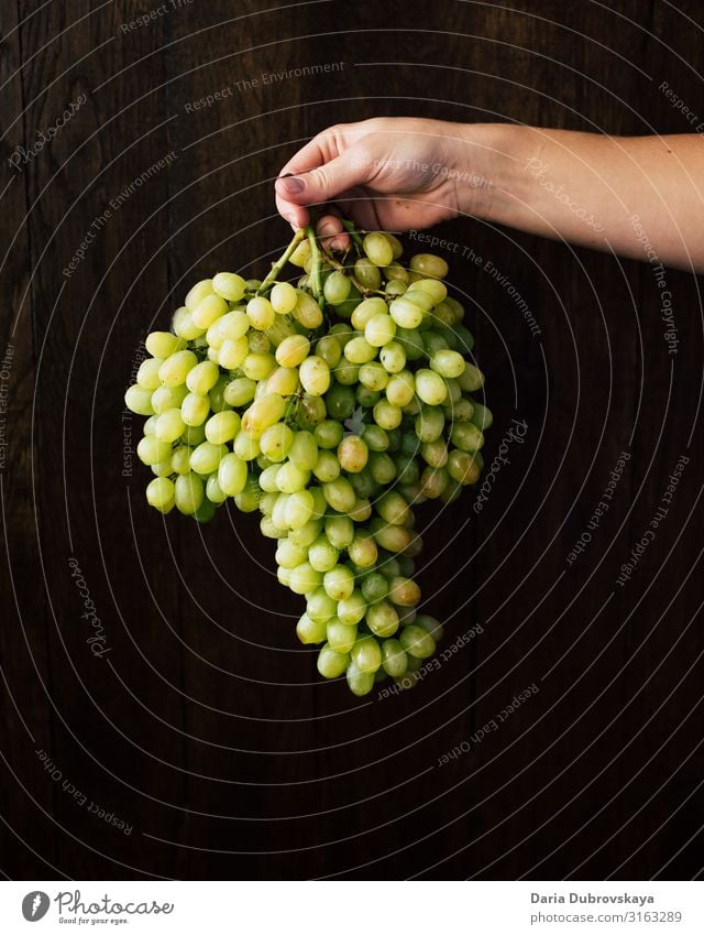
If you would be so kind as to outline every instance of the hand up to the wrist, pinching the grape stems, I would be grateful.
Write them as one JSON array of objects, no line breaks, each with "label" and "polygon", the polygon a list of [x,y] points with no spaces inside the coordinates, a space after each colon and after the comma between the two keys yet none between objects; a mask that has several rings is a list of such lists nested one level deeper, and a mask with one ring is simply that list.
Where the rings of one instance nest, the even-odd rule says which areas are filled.
[{"label": "hand up to the wrist, pinching the grape stems", "polygon": [[[276,206],[294,228],[309,222],[308,205],[326,203],[365,230],[425,228],[457,217],[471,210],[471,193],[481,192],[485,177],[466,165],[465,132],[459,123],[404,117],[331,127],[283,167]],[[477,148],[476,157],[487,156]],[[333,249],[348,246],[341,231],[334,215],[318,224]]]}]

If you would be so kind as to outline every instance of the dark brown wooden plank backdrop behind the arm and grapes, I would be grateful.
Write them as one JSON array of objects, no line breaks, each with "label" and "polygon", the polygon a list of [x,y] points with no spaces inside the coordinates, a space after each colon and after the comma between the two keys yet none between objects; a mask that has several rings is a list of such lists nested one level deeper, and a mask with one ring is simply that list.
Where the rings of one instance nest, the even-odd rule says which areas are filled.
[{"label": "dark brown wooden plank backdrop behind the arm and grapes", "polygon": [[[496,413],[487,459],[512,418],[528,432],[480,517],[471,493],[424,513],[422,586],[446,645],[483,632],[382,700],[320,683],[293,632],[301,601],[276,584],[254,519],[221,513],[200,529],[147,510],[148,474],[129,452],[122,474],[140,424],[123,420],[122,395],[145,333],[188,284],[222,268],[262,273],[280,250],[289,230],[272,178],[314,133],[375,115],[693,132],[659,88],[704,121],[701,4],[194,0],[121,31],[157,7],[2,4],[0,870],[697,874],[701,281],[667,271],[670,356],[648,267],[470,219],[443,227],[483,261],[447,254]],[[333,62],[345,69],[261,80]],[[258,87],[186,109],[253,77]],[[51,144],[11,170],[15,146],[81,94]],[[172,151],[66,278],[110,199]],[[613,505],[569,567],[623,449]],[[667,519],[618,587],[681,455]],[[102,659],[86,642],[72,557],[105,628]],[[501,729],[438,765],[531,683],[539,693]]]}]

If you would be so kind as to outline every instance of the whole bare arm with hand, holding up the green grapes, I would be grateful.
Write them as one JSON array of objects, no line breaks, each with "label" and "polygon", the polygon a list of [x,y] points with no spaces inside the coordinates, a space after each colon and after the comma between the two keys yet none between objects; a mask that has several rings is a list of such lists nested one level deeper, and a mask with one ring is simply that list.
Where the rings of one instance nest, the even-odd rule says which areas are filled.
[{"label": "whole bare arm with hand, holding up the green grapes", "polygon": [[[698,133],[607,137],[400,117],[340,124],[299,150],[276,181],[276,205],[294,228],[308,224],[309,205],[326,204],[366,230],[474,216],[704,272]],[[318,232],[345,248],[334,211]]]}]

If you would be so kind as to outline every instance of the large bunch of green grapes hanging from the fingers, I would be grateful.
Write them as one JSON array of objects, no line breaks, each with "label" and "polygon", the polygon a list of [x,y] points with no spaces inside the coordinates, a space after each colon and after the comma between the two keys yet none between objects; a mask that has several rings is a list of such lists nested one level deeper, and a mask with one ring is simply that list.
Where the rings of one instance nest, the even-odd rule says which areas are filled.
[{"label": "large bunch of green grapes hanging from the fingers", "polygon": [[413,682],[442,635],[417,611],[414,508],[476,482],[492,414],[444,260],[406,268],[393,235],[346,227],[343,254],[308,228],[263,282],[198,282],[146,338],[125,402],[146,416],[148,503],[201,522],[228,498],[258,509],[278,580],[307,601],[299,640],[366,695]]}]

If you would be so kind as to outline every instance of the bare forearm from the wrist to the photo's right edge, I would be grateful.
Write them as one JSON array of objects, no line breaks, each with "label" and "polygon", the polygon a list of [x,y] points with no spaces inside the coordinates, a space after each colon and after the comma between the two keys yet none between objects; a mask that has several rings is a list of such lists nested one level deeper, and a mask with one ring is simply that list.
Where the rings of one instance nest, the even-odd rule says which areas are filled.
[{"label": "bare forearm from the wrist to the photo's right edge", "polygon": [[704,271],[704,140],[697,134],[606,137],[470,124],[462,135],[462,159],[473,166],[460,196],[468,214]]}]

